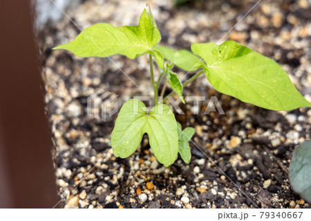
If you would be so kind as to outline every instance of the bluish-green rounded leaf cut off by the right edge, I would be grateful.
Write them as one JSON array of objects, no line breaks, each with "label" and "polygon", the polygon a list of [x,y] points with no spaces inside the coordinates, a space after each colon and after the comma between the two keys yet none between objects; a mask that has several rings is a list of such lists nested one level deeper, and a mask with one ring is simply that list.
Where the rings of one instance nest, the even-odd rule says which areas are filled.
[{"label": "bluish-green rounded leaf cut off by the right edge", "polygon": [[290,184],[296,193],[311,203],[311,140],[295,148],[288,170]]}]

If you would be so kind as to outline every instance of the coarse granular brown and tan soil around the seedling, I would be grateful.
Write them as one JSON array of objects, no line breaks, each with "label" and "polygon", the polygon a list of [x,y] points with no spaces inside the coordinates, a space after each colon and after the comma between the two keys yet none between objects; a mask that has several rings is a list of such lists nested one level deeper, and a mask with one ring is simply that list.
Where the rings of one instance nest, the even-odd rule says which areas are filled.
[{"label": "coarse granular brown and tan soil around the seedling", "polygon": [[[234,39],[281,64],[311,101],[310,1],[262,1],[225,35],[255,3],[191,1],[177,7],[171,1],[151,1],[151,8],[162,44],[189,49],[192,42],[220,44]],[[141,1],[83,1],[66,13],[82,29],[98,22],[135,25],[144,6]],[[199,103],[200,114],[193,114],[196,107],[191,102],[180,105],[185,114],[176,112],[183,127],[196,128],[189,143],[189,164],[178,157],[169,168],[162,166],[147,135],[131,157],[114,157],[110,134],[117,114],[106,122],[88,116],[87,98],[98,89],[117,94],[120,103],[149,96],[148,56],[111,57],[125,76],[107,58],[78,58],[68,51],[51,50],[73,40],[79,33],[77,26],[64,17],[39,30],[57,186],[63,197],[60,206],[311,208],[288,180],[294,148],[310,139],[311,109],[274,112],[255,107],[218,93],[204,76],[184,90],[185,96],[207,97]],[[180,78],[185,76],[185,71],[175,71]],[[218,98],[224,115],[203,114],[211,96]]]}]

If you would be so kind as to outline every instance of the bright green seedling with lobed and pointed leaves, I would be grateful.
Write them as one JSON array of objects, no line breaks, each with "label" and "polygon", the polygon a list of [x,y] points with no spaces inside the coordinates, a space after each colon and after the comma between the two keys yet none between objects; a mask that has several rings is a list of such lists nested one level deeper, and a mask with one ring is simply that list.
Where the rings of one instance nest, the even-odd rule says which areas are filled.
[{"label": "bright green seedling with lobed and pointed leaves", "polygon": [[[189,163],[188,141],[194,134],[194,128],[187,127],[182,131],[171,108],[164,103],[175,94],[185,103],[183,87],[202,73],[216,90],[259,107],[273,110],[311,107],[279,64],[246,46],[227,41],[220,45],[192,44],[192,52],[184,49],[175,51],[158,45],[160,39],[149,8],[149,15],[146,10],[142,12],[138,26],[95,24],[82,31],[73,42],[54,48],[72,51],[79,57],[105,58],[120,54],[134,59],[149,54],[155,106],[148,111],[140,100],[131,99],[124,103],[111,134],[111,146],[116,157],[125,158],[133,154],[142,141],[142,135],[147,133],[153,154],[164,166],[176,161],[178,152]],[[160,69],[157,81],[153,76],[153,58]],[[167,60],[165,65],[164,59]],[[171,71],[173,65],[188,72],[198,72],[182,84],[177,74]],[[173,92],[159,101],[162,76],[166,76]]]}]

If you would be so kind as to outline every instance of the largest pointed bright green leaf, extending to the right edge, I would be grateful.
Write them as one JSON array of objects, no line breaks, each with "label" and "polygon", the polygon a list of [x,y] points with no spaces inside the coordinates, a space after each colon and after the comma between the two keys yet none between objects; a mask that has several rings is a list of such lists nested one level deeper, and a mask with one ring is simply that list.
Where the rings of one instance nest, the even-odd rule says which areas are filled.
[{"label": "largest pointed bright green leaf, extending to the right edge", "polygon": [[270,58],[234,41],[192,44],[191,49],[206,62],[202,64],[205,76],[223,94],[266,109],[311,107],[288,74]]}]

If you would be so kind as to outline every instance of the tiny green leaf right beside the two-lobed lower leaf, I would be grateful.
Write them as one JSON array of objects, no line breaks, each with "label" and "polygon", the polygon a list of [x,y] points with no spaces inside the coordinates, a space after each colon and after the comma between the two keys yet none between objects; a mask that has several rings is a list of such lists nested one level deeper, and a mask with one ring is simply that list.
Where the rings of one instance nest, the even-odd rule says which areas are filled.
[{"label": "tiny green leaf right beside the two-lobed lower leaf", "polygon": [[182,126],[180,123],[177,123],[178,127],[178,152],[180,154],[180,157],[182,158],[185,163],[189,163],[191,159],[191,150],[189,147],[189,141],[191,140],[191,137],[194,136],[194,133],[196,130],[194,130],[194,127],[186,127],[182,131]]}]

